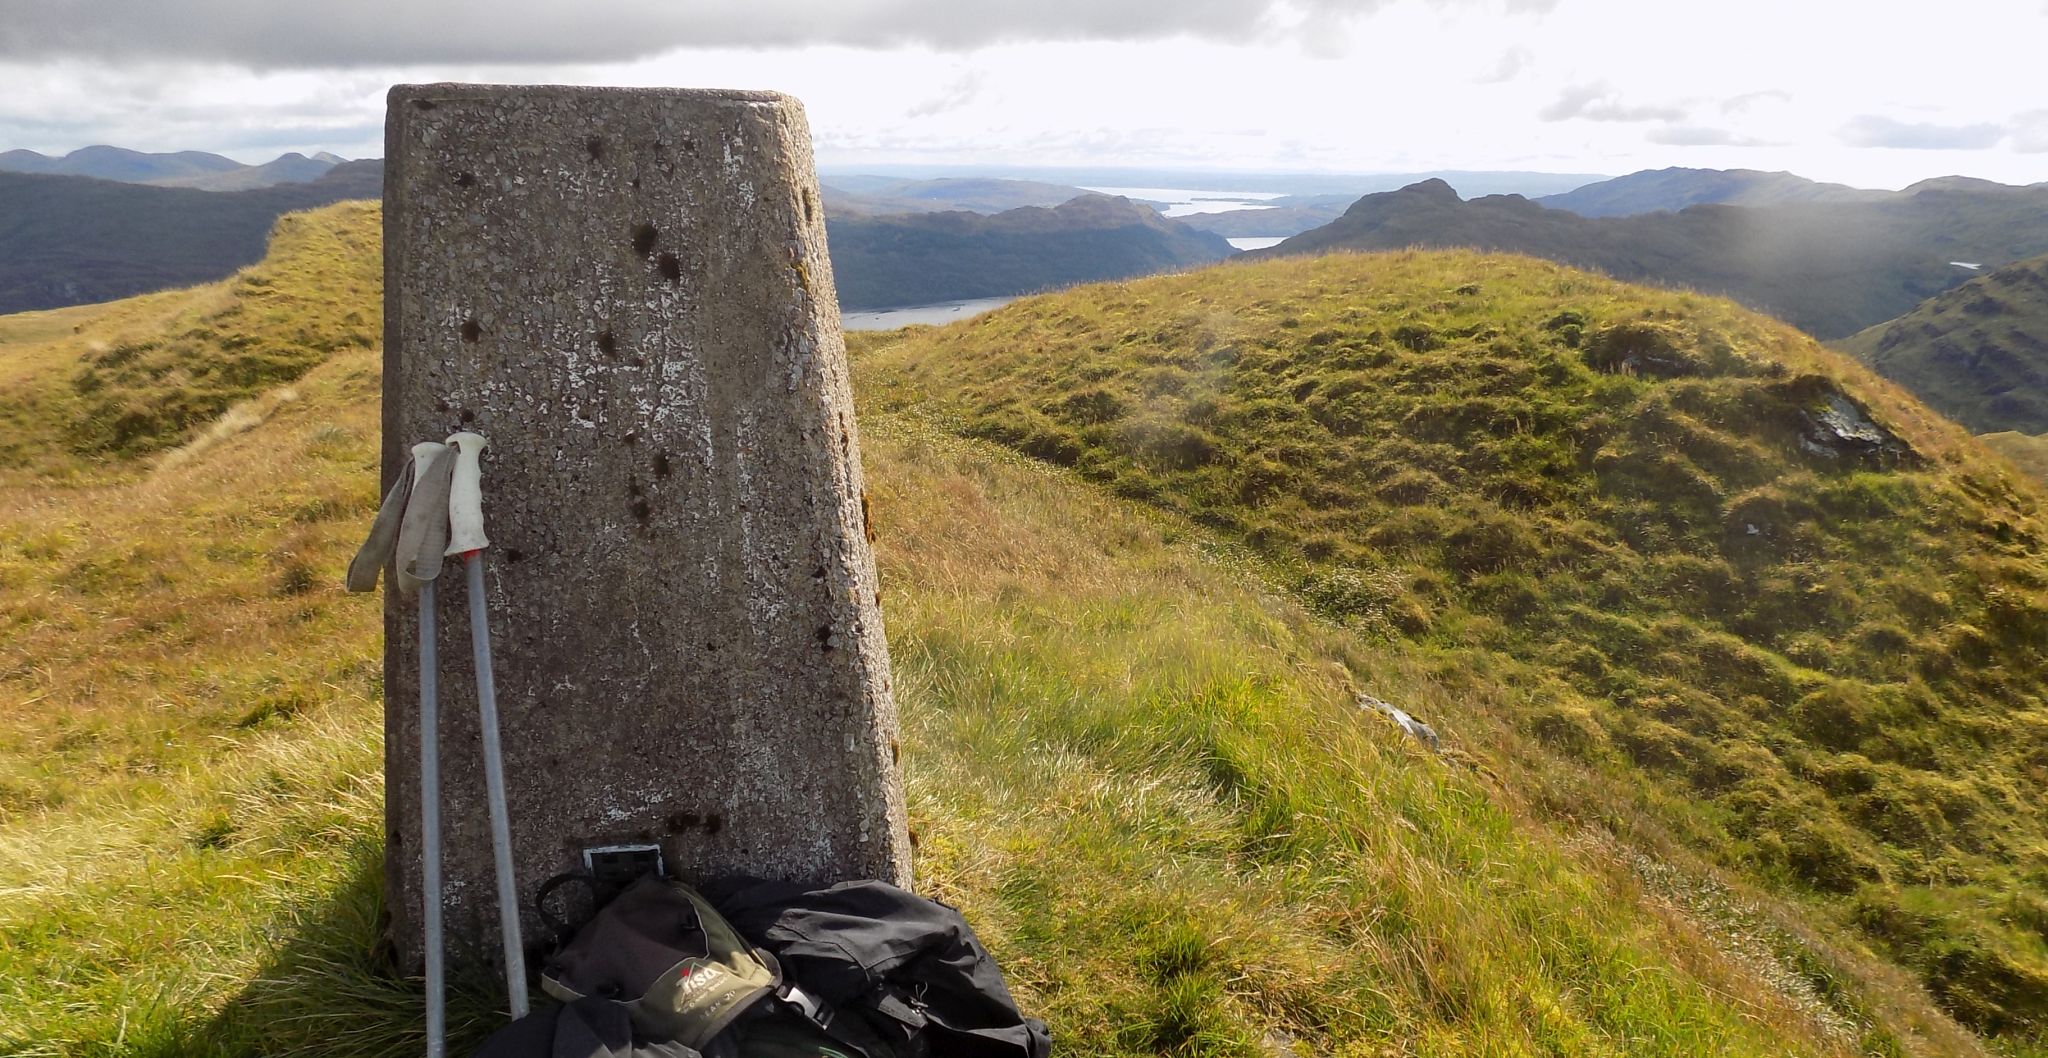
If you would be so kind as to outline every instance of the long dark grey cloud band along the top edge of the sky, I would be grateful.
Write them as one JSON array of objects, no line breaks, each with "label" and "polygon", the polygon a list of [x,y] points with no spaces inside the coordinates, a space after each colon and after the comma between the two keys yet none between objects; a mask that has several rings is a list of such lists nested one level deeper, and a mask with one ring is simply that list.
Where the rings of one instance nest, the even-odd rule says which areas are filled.
[{"label": "long dark grey cloud band along the top edge of the sky", "polygon": [[[678,47],[1276,39],[1386,0],[0,0],[0,59],[252,68],[623,61]],[[1546,0],[1444,0],[1534,8]]]}]

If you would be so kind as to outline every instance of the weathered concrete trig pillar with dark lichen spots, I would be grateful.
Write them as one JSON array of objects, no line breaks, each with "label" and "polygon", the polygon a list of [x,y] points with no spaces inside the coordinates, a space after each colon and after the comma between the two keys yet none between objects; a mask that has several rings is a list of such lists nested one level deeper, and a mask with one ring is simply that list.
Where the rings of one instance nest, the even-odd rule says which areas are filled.
[{"label": "weathered concrete trig pillar with dark lichen spots", "polygon": [[[846,346],[797,100],[397,86],[383,481],[483,456],[520,900],[582,849],[909,882]],[[496,958],[475,675],[440,593],[451,962]],[[391,937],[420,966],[418,616],[385,602]],[[528,945],[539,937],[530,907]]]}]

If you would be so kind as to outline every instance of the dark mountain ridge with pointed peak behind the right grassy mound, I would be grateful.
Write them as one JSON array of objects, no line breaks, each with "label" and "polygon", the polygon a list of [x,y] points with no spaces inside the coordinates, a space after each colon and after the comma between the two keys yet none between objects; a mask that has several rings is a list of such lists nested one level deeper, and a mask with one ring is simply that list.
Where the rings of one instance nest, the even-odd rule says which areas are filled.
[{"label": "dark mountain ridge with pointed peak behind the right grassy mound", "polygon": [[1892,319],[1970,278],[2048,254],[2048,184],[1944,178],[1870,201],[1581,217],[1516,194],[1458,199],[1444,180],[1366,194],[1335,221],[1251,256],[1479,248],[1532,254],[1616,278],[1692,286],[1819,338]]}]

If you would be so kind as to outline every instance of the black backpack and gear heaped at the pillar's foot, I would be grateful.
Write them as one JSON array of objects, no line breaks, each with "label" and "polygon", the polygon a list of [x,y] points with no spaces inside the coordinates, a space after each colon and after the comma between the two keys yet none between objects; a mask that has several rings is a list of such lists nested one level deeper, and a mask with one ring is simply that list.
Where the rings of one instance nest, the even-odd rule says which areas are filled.
[{"label": "black backpack and gear heaped at the pillar's foot", "polygon": [[885,882],[711,892],[655,876],[629,886],[547,962],[547,990],[571,1003],[502,1029],[477,1058],[1051,1054],[1044,1023],[1018,1013],[950,907]]}]

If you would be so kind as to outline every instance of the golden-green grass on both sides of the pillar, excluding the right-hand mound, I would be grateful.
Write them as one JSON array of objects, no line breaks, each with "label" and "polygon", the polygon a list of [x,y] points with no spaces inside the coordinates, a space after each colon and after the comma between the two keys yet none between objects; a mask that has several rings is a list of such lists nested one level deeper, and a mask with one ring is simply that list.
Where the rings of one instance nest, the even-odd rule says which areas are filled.
[{"label": "golden-green grass on both sides of the pillar, excluding the right-hand mound", "polygon": [[[317,307],[375,231],[293,219],[256,274]],[[10,317],[8,391],[240,297]],[[377,354],[336,344],[178,448],[51,430],[0,481],[0,1052],[418,1052],[375,941],[381,608],[338,591],[375,393]],[[1505,659],[1317,618],[1227,538],[874,393],[920,884],[1063,1052],[1982,1054],[1798,907],[1561,817],[1493,757],[1530,704]],[[459,990],[457,1048],[487,997]]]}]

